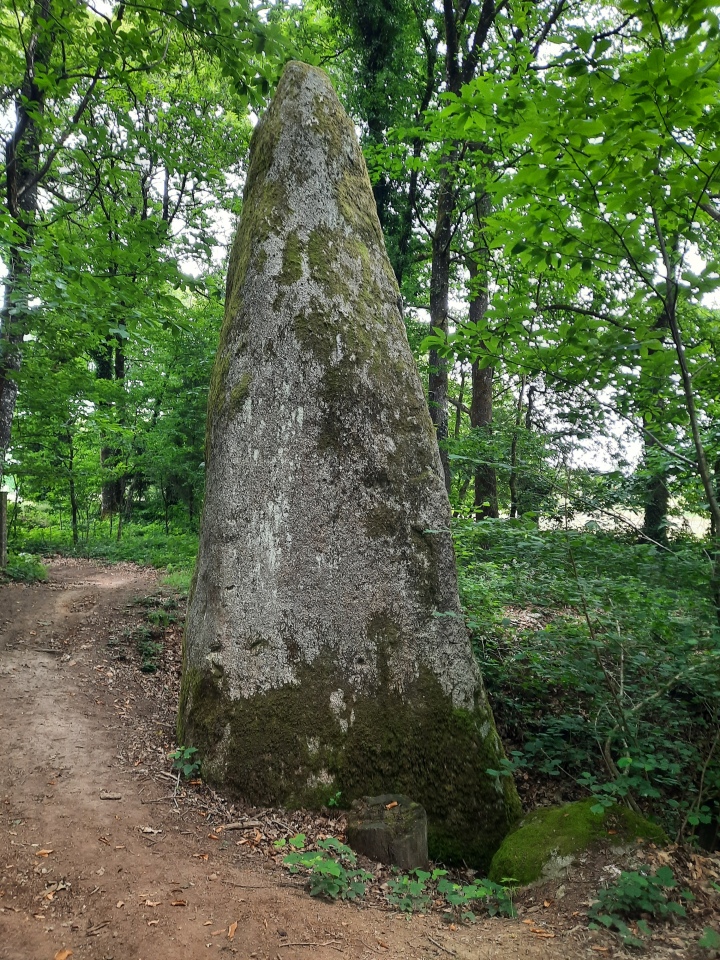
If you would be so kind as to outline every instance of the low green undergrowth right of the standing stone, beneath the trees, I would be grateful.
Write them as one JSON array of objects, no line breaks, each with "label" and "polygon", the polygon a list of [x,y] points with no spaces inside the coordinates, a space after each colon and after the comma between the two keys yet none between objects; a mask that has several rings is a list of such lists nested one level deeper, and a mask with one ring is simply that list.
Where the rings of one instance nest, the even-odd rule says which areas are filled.
[{"label": "low green undergrowth right of the standing stone, beneath the trees", "polygon": [[460,586],[515,772],[712,846],[720,631],[697,543],[459,525]]}]

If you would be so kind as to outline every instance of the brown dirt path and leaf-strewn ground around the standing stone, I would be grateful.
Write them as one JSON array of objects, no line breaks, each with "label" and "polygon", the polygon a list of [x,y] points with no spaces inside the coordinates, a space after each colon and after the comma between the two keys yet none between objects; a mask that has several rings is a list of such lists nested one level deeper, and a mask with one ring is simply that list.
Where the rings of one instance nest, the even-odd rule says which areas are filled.
[{"label": "brown dirt path and leaf-strewn ground around the standing stone", "polygon": [[[342,836],[340,814],[245,808],[170,772],[175,609],[157,572],[132,564],[53,560],[46,583],[0,586],[0,958],[625,955],[587,929],[587,906],[620,869],[662,851],[596,850],[522,891],[514,920],[407,917],[382,903],[380,883],[370,902],[311,899],[275,842]],[[138,647],[156,672],[141,671]],[[685,857],[701,880],[712,864]],[[710,956],[696,937],[661,928],[644,955]]]}]

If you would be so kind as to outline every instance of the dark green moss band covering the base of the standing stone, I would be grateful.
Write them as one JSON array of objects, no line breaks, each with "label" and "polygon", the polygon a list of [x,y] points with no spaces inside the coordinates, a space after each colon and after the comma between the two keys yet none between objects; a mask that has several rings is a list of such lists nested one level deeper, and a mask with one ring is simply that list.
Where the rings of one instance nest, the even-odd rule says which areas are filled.
[{"label": "dark green moss band covering the base of the standing stone", "polygon": [[[374,623],[390,646],[399,641],[391,619]],[[346,803],[405,794],[427,811],[433,858],[487,869],[520,816],[514,788],[485,773],[501,749],[489,712],[453,708],[422,667],[411,689],[381,684],[364,696],[344,674],[321,658],[299,666],[296,684],[232,700],[210,670],[186,670],[179,735],[199,749],[209,782],[250,803],[317,807],[338,790]],[[338,690],[342,717],[330,699]]]}]

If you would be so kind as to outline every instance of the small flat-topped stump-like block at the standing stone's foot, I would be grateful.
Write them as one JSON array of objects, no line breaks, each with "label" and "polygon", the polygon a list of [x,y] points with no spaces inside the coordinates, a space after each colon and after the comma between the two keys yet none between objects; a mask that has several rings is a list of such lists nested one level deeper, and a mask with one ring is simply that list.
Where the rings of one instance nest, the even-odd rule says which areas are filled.
[{"label": "small flat-topped stump-like block at the standing stone's foot", "polygon": [[427,816],[419,803],[401,794],[355,800],[348,817],[348,845],[370,860],[402,870],[428,863]]}]

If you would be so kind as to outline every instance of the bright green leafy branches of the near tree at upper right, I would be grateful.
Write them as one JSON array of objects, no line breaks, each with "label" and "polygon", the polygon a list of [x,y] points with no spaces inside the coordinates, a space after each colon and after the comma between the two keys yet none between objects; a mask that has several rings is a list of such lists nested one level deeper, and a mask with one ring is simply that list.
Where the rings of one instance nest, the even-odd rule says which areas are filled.
[{"label": "bright green leafy branches of the near tree at upper right", "polygon": [[498,289],[454,349],[609,391],[646,437],[646,532],[661,541],[666,456],[694,463],[717,527],[712,325],[695,319],[718,279],[717,30],[706,4],[619,3],[559,32],[542,70],[528,61],[509,82],[467,84],[442,121],[488,137],[496,170],[480,182]]}]

